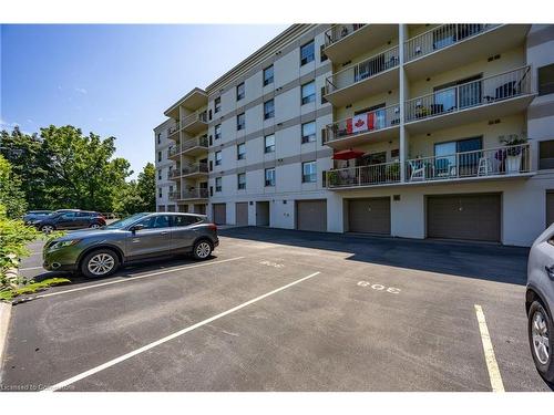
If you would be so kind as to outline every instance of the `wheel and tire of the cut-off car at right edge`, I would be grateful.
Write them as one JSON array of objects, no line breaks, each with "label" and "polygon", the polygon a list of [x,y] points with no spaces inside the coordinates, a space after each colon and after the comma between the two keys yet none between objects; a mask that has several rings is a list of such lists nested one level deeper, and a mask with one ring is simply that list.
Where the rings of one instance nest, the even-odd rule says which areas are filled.
[{"label": "wheel and tire of the cut-off car at right edge", "polygon": [[552,317],[540,301],[534,301],[527,313],[527,335],[531,355],[541,376],[554,382],[554,324]]}]

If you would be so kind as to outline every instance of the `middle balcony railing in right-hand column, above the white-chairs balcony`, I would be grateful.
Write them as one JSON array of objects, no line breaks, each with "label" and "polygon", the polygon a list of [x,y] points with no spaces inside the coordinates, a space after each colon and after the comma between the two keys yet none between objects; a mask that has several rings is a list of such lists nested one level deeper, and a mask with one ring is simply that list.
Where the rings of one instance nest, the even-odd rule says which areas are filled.
[{"label": "middle balcony railing in right-hand column, above the white-chairs balcony", "polygon": [[523,66],[409,100],[406,102],[406,122],[454,113],[530,93],[530,68]]}]

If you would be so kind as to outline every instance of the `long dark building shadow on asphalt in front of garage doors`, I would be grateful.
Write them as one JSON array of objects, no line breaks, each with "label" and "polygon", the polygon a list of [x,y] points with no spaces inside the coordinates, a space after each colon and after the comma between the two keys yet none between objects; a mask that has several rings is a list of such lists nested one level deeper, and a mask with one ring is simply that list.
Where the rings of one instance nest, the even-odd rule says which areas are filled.
[{"label": "long dark building shadow on asphalt in front of garage doors", "polygon": [[514,284],[526,282],[527,248],[257,227],[223,229],[219,236],[345,252],[350,261]]}]

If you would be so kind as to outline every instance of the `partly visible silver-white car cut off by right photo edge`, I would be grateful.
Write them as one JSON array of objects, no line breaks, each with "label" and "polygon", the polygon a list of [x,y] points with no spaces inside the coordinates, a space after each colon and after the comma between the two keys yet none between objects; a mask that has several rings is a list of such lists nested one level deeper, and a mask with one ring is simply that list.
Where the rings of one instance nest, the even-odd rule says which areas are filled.
[{"label": "partly visible silver-white car cut off by right photo edge", "polygon": [[531,354],[541,376],[554,382],[554,224],[533,243],[527,262],[527,333]]}]

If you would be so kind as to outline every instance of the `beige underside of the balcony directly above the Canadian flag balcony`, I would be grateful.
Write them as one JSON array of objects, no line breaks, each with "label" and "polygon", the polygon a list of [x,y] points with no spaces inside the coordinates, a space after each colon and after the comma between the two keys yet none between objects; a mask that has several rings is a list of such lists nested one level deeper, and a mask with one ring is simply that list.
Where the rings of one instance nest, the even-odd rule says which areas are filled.
[{"label": "beige underside of the balcony directly above the Canadian flag balcony", "polygon": [[336,90],[325,95],[325,98],[335,106],[345,106],[368,96],[379,94],[384,91],[396,90],[399,84],[399,68],[379,72],[373,76],[352,83],[349,86]]}]

